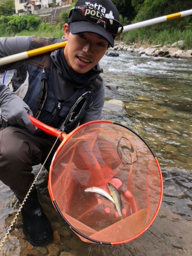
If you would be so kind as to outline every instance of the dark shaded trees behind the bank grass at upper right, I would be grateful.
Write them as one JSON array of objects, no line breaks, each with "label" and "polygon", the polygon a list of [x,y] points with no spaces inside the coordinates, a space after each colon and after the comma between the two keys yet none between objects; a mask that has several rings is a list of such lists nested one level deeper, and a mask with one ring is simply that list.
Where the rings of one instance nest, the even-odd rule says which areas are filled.
[{"label": "dark shaded trees behind the bank grass at upper right", "polygon": [[[192,0],[112,0],[128,24],[157,18],[192,9]],[[192,16],[158,24],[156,28],[184,29],[192,22]]]}]

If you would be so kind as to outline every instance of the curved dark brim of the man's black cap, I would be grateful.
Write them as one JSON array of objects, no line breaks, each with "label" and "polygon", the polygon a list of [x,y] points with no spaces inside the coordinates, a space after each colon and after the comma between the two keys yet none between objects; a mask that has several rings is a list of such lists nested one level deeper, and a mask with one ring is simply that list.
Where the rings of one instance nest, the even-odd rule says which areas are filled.
[{"label": "curved dark brim of the man's black cap", "polygon": [[72,34],[90,32],[98,34],[104,37],[110,44],[110,46],[114,47],[114,37],[112,34],[108,33],[106,29],[100,25],[92,24],[88,21],[78,21],[70,23],[70,32]]}]

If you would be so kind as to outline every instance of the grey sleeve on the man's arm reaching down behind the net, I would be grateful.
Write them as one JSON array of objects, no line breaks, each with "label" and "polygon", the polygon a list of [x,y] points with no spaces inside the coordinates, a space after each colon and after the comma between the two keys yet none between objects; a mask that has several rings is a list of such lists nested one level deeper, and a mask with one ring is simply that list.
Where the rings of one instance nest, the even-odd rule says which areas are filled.
[{"label": "grey sleeve on the man's arm reaching down behind the net", "polygon": [[82,118],[80,124],[85,124],[87,122],[101,120],[102,108],[104,106],[105,90],[102,84],[97,96],[94,98],[93,103],[86,111],[86,114]]}]

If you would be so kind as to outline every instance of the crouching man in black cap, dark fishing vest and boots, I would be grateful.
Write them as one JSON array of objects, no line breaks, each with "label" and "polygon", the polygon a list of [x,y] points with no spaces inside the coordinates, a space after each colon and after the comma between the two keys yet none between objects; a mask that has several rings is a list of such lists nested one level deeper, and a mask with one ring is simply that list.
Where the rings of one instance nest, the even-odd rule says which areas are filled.
[{"label": "crouching man in black cap, dark fishing vest and boots", "polygon": [[[66,133],[79,124],[100,120],[104,86],[98,62],[123,30],[118,21],[118,10],[110,0],[78,0],[64,25],[65,48],[0,67],[1,71],[14,70],[14,92],[0,84],[0,180],[20,202],[34,180],[32,166],[44,162],[55,141],[35,130],[28,114]],[[5,38],[0,40],[0,58],[50,43],[30,36]],[[52,228],[35,186],[22,208],[22,218],[24,234],[32,245],[52,241]]]}]

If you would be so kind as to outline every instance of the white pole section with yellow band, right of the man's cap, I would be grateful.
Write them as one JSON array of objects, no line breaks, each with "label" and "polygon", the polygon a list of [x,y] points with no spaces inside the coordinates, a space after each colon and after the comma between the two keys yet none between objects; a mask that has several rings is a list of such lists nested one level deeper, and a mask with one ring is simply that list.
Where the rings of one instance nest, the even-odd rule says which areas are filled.
[{"label": "white pole section with yellow band, right of the man's cap", "polygon": [[138,29],[138,28],[144,28],[144,27],[151,26],[151,25],[154,25],[154,24],[158,24],[158,23],[161,23],[161,22],[165,22],[165,21],[168,21],[168,20],[174,20],[174,19],[177,19],[177,18],[188,16],[188,15],[191,15],[191,14],[192,14],[192,10],[187,10],[187,11],[183,11],[183,12],[177,12],[177,13],[174,13],[174,14],[162,16],[162,17],[159,17],[159,18],[154,18],[154,19],[151,19],[151,20],[145,20],[145,21],[142,21],[142,22],[138,22],[138,23],[135,23],[135,24],[124,26],[123,27],[123,32],[128,32],[128,31]]}]

